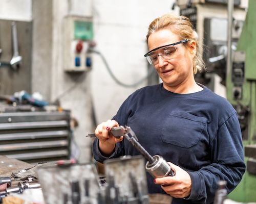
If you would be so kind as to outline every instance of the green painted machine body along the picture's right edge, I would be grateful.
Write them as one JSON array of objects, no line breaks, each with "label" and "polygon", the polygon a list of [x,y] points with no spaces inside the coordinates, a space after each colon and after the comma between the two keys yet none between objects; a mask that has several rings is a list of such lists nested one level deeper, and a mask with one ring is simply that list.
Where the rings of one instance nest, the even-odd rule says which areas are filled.
[{"label": "green painted machine body along the picture's right edge", "polygon": [[246,172],[230,194],[238,201],[256,201],[256,2],[249,0],[243,31],[227,67],[227,99],[236,108],[245,147]]}]

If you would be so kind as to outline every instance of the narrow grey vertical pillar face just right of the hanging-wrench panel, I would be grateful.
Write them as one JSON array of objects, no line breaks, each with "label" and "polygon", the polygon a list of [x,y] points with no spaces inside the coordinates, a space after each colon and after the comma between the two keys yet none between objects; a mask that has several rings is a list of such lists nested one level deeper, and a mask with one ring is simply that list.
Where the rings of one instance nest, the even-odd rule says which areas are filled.
[{"label": "narrow grey vertical pillar face just right of the hanging-wrench panel", "polygon": [[32,93],[38,91],[49,101],[52,88],[52,0],[33,0],[32,8]]}]

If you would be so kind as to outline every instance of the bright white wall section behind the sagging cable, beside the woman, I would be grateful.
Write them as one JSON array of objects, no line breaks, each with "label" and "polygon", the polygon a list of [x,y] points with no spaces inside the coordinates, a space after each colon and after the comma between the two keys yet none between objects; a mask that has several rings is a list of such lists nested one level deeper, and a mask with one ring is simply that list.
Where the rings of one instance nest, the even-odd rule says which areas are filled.
[{"label": "bright white wall section behind the sagging cable, beside the woman", "polygon": [[[95,41],[115,76],[134,84],[147,74],[145,36],[156,17],[170,12],[173,1],[94,1]],[[111,119],[124,99],[146,82],[133,88],[118,85],[99,56],[94,55],[92,70],[93,104],[97,122]]]}]

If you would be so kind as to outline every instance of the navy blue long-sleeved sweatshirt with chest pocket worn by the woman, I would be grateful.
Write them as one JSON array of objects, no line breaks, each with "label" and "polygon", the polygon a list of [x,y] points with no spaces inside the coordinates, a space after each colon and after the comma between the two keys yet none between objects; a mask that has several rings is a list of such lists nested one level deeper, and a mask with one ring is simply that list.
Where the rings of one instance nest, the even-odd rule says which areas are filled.
[{"label": "navy blue long-sleeved sweatshirt with chest pocket worn by the woman", "polygon": [[[207,87],[190,94],[167,91],[163,84],[135,91],[114,116],[119,125],[131,126],[139,143],[152,155],[161,155],[191,177],[191,193],[172,203],[212,203],[219,180],[228,192],[245,172],[243,145],[236,111]],[[95,160],[139,155],[126,139],[106,158],[94,140]],[[147,173],[148,193],[165,193]]]}]

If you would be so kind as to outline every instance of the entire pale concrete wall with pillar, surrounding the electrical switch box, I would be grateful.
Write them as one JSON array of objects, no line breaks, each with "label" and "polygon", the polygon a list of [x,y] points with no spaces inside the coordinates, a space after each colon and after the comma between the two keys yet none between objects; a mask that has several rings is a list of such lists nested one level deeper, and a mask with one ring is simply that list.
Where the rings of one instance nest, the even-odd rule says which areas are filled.
[{"label": "entire pale concrete wall with pillar, surrounding the electrical switch box", "polygon": [[102,53],[120,81],[133,84],[147,74],[143,57],[147,51],[147,26],[154,18],[170,12],[172,5],[169,0],[1,2],[1,18],[33,20],[32,92],[40,92],[50,102],[58,99],[63,108],[72,111],[79,122],[74,136],[80,148],[80,162],[91,160],[92,141],[85,135],[94,131],[97,123],[112,118],[122,101],[146,82],[133,88],[117,85],[96,54],[92,54],[91,71],[63,71],[63,17],[93,16],[95,49]]}]

